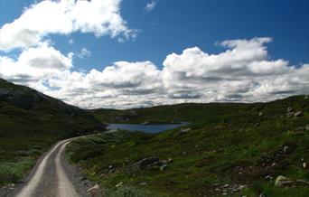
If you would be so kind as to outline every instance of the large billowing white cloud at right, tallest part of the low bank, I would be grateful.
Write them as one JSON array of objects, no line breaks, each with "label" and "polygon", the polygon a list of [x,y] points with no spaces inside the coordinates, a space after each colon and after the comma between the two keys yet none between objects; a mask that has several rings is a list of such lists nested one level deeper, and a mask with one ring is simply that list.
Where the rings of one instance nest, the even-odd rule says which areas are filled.
[{"label": "large billowing white cloud at right, tallest part of the low bank", "polygon": [[197,101],[262,101],[308,93],[308,66],[295,68],[288,61],[268,60],[264,44],[270,41],[221,42],[230,49],[220,54],[197,47],[170,54],[164,61],[164,87],[171,98],[191,96]]}]

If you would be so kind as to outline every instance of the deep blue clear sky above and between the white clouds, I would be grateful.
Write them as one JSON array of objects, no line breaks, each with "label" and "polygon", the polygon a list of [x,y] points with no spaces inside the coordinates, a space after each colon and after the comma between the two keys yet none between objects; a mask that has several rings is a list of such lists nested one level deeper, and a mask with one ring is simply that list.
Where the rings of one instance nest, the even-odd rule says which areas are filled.
[{"label": "deep blue clear sky above and between the white clouds", "polygon": [[[32,1],[3,0],[1,23],[11,23]],[[198,46],[208,52],[221,52],[215,42],[272,37],[268,51],[273,58],[285,58],[293,64],[309,61],[309,2],[306,0],[169,0],[160,1],[152,12],[145,12],[147,0],[124,0],[121,13],[127,24],[139,30],[134,41],[92,33],[52,36],[61,52],[83,47],[92,58],[76,61],[77,69],[109,65],[114,61],[154,61],[161,66],[166,54]],[[5,9],[4,9],[5,8]],[[73,39],[74,44],[68,44]]]}]

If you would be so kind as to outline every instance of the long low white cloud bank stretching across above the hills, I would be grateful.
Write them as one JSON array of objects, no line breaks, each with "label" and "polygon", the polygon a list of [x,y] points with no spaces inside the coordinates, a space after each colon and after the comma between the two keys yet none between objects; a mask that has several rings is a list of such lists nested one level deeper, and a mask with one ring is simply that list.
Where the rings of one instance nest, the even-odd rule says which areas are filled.
[{"label": "long low white cloud bank stretching across above the hills", "polygon": [[182,102],[255,102],[309,93],[309,64],[270,60],[271,38],[217,43],[219,54],[198,47],[151,61],[117,61],[103,70],[72,71],[73,54],[49,45],[0,57],[0,77],[81,108],[136,108]]}]

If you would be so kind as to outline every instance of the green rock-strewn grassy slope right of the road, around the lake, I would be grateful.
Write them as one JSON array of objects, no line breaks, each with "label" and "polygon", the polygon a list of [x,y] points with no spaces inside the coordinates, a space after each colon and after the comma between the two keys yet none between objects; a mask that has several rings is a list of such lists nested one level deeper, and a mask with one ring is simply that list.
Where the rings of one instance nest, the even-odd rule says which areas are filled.
[{"label": "green rock-strewn grassy slope right of the road, around the lake", "polygon": [[[125,131],[89,136],[74,141],[68,156],[73,163],[84,167],[90,179],[108,188],[106,191],[133,192],[133,196],[136,193],[146,196],[145,191],[150,191],[149,196],[221,195],[222,189],[220,192],[215,189],[227,183],[246,185],[240,194],[248,196],[258,196],[261,192],[267,196],[306,196],[308,187],[277,188],[273,186],[274,180],[264,178],[267,174],[275,178],[282,174],[309,181],[309,170],[303,169],[301,162],[301,158],[309,162],[309,132],[299,128],[309,124],[308,104],[308,98],[297,96],[270,103],[182,104],[135,109],[138,117],[127,122],[190,121],[188,127],[192,130],[182,134],[175,129],[154,136]],[[286,117],[288,107],[304,111],[304,116]],[[92,111],[103,121],[126,113],[108,110],[105,117],[104,112]],[[277,156],[284,145],[295,150]],[[127,173],[130,164],[148,156],[172,158],[173,164],[163,172]],[[263,158],[270,158],[265,166],[262,166]],[[109,165],[116,166],[116,173],[108,174]],[[126,187],[115,187],[121,182]],[[146,185],[140,185],[145,182]]]}]

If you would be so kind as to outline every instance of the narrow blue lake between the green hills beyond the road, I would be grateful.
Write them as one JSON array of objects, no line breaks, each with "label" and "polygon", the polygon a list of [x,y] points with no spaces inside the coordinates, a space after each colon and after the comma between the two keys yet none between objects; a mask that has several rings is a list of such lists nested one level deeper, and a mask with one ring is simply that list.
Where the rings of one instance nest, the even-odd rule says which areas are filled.
[{"label": "narrow blue lake between the green hills beyond the road", "polygon": [[127,131],[141,131],[148,134],[160,133],[171,130],[177,127],[183,127],[188,123],[183,122],[179,124],[164,124],[164,125],[142,125],[142,124],[108,124],[108,130],[127,130]]}]

